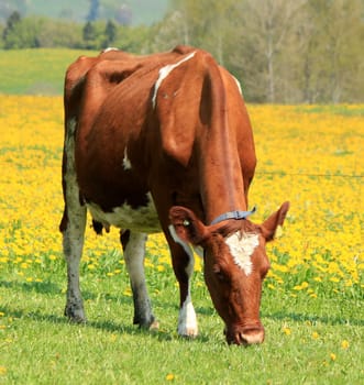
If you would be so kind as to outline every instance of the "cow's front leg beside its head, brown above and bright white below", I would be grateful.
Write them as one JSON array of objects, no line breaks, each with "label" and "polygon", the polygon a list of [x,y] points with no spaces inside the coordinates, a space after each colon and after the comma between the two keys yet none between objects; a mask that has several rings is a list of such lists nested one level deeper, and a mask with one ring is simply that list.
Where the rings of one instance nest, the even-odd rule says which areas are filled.
[{"label": "cow's front leg beside its head, brown above and bright white below", "polygon": [[174,240],[168,241],[173,268],[179,285],[179,315],[178,334],[184,337],[197,337],[198,326],[195,308],[191,300],[191,277],[194,274],[194,252],[189,244],[180,241],[169,228]]}]

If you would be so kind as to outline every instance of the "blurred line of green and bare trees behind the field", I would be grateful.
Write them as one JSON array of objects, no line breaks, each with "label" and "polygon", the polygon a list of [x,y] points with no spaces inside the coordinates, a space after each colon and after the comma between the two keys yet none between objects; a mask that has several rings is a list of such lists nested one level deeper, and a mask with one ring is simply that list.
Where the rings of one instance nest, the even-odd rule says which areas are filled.
[{"label": "blurred line of green and bare trees behind the field", "polygon": [[363,102],[364,0],[170,0],[151,26],[85,24],[13,12],[4,50],[117,46],[139,54],[205,48],[241,79],[252,102]]}]

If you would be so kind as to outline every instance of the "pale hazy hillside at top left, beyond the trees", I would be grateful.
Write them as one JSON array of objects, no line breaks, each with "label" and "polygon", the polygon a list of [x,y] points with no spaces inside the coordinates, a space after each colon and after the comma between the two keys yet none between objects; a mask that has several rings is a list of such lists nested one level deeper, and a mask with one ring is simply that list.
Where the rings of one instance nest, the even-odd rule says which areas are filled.
[{"label": "pale hazy hillside at top left, beyond the trees", "polygon": [[[4,23],[9,14],[19,11],[24,15],[44,15],[86,21],[92,0],[0,0],[0,22]],[[95,1],[93,1],[95,2]],[[97,18],[117,19],[132,25],[152,24],[163,19],[169,0],[99,0]]]}]

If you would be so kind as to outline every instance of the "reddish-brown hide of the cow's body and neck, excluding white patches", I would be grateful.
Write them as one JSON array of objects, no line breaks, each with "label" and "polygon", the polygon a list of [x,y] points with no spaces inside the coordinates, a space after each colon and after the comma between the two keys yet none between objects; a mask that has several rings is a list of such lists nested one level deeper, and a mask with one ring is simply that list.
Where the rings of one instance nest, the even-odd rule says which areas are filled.
[{"label": "reddish-brown hide of the cow's body and neck, excluding white patches", "polygon": [[[153,108],[159,69],[192,52],[192,58],[163,80]],[[224,211],[244,210],[243,191],[254,174],[255,152],[234,79],[209,54],[194,48],[147,59],[124,56],[110,52],[93,61],[79,59],[78,82],[73,67],[68,70],[70,113],[66,116],[69,120],[73,111],[82,111],[78,113],[76,167],[84,198],[111,210],[130,195],[135,197],[133,206],[145,204],[136,195],[150,190],[154,199],[161,197],[168,205],[157,206],[164,222],[174,204],[192,208],[207,221]],[[81,94],[75,102],[68,87]],[[131,173],[122,167],[126,145]]]}]

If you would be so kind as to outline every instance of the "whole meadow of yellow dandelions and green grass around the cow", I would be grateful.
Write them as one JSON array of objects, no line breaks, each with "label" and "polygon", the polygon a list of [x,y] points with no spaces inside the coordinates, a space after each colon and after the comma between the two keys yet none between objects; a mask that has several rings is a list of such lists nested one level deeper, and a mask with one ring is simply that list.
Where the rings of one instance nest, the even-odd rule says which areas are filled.
[{"label": "whole meadow of yellow dandelions and green grass around the cow", "polygon": [[228,346],[197,260],[200,336],[176,333],[178,289],[162,234],[146,274],[161,329],[132,324],[118,231],[87,227],[88,323],[63,317],[66,275],[62,98],[0,96],[0,384],[362,384],[364,106],[247,106],[258,166],[250,193],[263,221],[291,209],[268,246],[260,346]]}]

